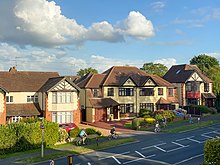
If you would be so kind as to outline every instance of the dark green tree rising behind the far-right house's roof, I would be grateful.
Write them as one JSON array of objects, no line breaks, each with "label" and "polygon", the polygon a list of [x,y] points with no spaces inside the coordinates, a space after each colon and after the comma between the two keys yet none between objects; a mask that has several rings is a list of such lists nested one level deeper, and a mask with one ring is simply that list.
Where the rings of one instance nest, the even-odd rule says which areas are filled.
[{"label": "dark green tree rising behind the far-right house's roof", "polygon": [[190,64],[197,65],[198,68],[204,72],[208,73],[209,69],[215,65],[219,65],[218,60],[215,57],[208,56],[206,54],[201,54],[199,56],[194,56],[190,60]]}]

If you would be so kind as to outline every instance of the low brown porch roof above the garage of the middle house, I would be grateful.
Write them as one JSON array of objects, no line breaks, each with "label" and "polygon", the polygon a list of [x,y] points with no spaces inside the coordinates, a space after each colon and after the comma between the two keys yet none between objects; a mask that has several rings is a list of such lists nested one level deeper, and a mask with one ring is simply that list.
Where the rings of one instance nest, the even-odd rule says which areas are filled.
[{"label": "low brown porch roof above the garage of the middle house", "polygon": [[92,98],[89,99],[89,101],[94,108],[106,108],[119,105],[119,103],[112,98]]}]

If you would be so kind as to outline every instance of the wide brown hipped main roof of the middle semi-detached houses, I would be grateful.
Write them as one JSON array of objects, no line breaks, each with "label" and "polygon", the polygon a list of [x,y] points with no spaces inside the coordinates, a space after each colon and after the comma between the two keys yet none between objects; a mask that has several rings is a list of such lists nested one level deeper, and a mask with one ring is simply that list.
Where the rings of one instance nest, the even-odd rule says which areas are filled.
[{"label": "wide brown hipped main roof of the middle semi-detached houses", "polygon": [[128,79],[137,86],[143,86],[148,79],[152,79],[158,86],[174,87],[163,78],[151,75],[134,66],[113,66],[102,74],[87,74],[77,80],[80,88],[98,88],[100,86],[122,86]]}]

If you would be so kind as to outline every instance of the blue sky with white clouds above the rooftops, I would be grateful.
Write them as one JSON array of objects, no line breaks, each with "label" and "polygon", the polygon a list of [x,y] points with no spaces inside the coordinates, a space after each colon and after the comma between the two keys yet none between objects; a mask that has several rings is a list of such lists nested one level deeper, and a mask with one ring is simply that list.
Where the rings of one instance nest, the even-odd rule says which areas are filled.
[{"label": "blue sky with white clouds above the rooftops", "polygon": [[220,61],[218,0],[0,0],[0,71]]}]

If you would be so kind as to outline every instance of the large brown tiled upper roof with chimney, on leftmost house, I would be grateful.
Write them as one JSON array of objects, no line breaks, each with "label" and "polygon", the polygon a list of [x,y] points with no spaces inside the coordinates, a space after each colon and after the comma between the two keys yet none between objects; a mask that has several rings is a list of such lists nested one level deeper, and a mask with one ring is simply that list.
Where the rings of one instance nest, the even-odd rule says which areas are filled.
[{"label": "large brown tiled upper roof with chimney, on leftmost house", "polygon": [[58,76],[58,72],[23,72],[13,67],[9,72],[0,72],[0,86],[9,92],[35,92],[49,78]]}]

